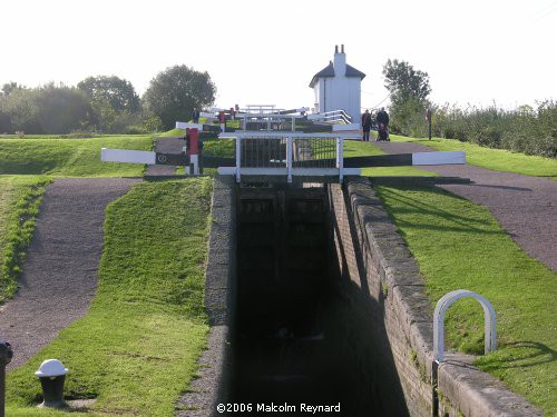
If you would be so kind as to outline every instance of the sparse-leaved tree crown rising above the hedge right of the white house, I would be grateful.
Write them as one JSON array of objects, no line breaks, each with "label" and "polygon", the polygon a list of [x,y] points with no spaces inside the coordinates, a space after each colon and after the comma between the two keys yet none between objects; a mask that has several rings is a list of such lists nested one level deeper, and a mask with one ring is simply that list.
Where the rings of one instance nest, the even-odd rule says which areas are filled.
[{"label": "sparse-leaved tree crown rising above the hedge right of the white house", "polygon": [[423,103],[431,92],[428,73],[414,70],[405,61],[389,59],[383,66],[383,76],[384,87],[391,93],[391,102],[394,105],[402,105],[410,98]]}]

